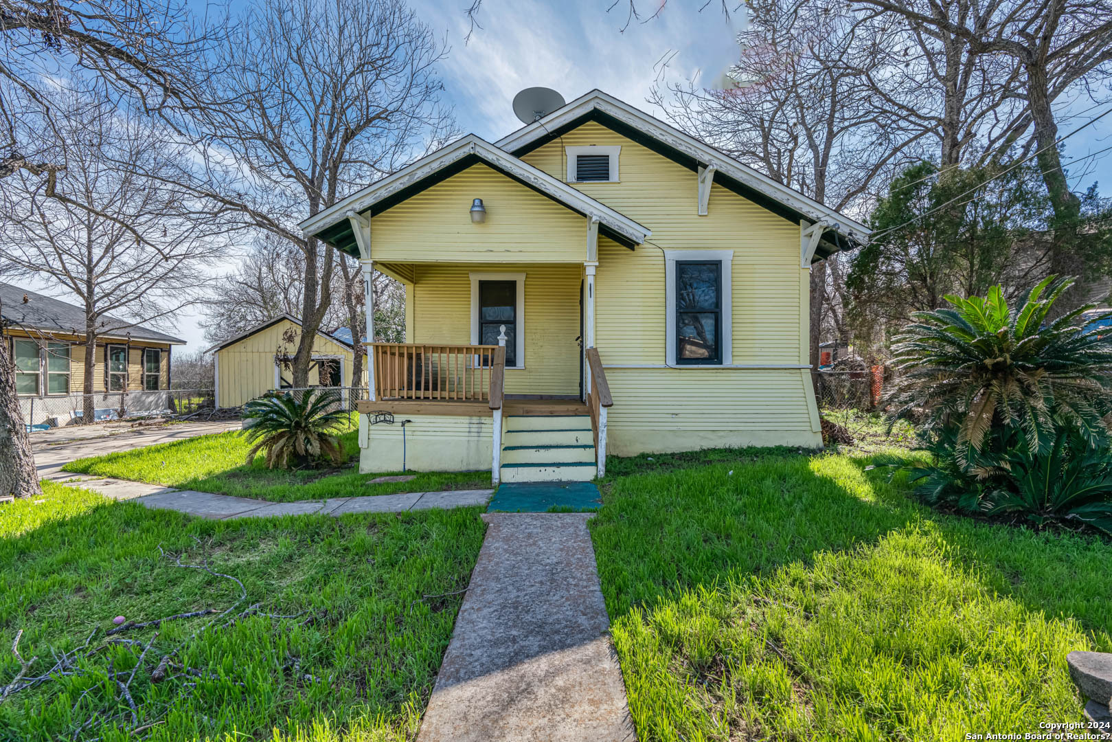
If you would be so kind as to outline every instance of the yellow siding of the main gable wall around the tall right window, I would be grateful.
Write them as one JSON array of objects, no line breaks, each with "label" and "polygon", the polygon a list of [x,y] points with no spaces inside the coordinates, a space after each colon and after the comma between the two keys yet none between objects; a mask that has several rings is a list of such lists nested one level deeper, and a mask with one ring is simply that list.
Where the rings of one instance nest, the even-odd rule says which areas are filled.
[{"label": "yellow siding of the main gable wall around the tall right window", "polygon": [[[697,177],[687,168],[606,129],[585,123],[525,156],[564,178],[564,146],[620,145],[616,184],[573,184],[653,230],[665,249],[734,251],[734,364],[806,363],[800,227],[715,185],[709,214],[698,216]],[[664,257],[655,245],[628,250],[599,239],[596,345],[603,363],[665,360]]]}]

